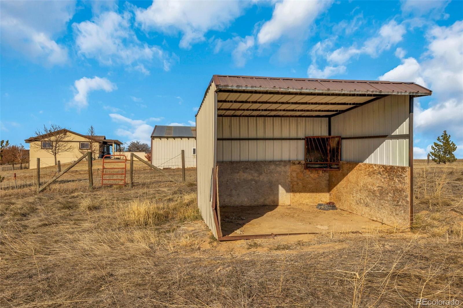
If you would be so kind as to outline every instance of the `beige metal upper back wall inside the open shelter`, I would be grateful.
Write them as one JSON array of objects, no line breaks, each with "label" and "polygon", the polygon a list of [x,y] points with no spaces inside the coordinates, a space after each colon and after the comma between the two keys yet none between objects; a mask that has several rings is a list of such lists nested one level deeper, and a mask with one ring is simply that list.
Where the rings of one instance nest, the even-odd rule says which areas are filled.
[{"label": "beige metal upper back wall inside the open shelter", "polygon": [[[327,118],[217,118],[217,138],[304,138],[326,135]],[[217,161],[304,160],[304,149],[304,140],[219,140]]]}]

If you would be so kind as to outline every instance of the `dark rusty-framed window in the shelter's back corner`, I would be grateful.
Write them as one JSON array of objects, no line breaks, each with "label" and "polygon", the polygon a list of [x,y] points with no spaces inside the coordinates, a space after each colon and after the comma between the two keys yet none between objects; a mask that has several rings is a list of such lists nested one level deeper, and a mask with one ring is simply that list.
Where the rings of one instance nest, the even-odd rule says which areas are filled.
[{"label": "dark rusty-framed window in the shelter's back corner", "polygon": [[306,137],[306,169],[339,170],[340,161],[340,136]]}]

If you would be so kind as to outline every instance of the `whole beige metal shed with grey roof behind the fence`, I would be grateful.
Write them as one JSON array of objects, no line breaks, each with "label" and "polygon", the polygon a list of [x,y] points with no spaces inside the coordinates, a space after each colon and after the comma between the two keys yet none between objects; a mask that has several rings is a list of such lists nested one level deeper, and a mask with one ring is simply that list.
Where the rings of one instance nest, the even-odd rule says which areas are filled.
[{"label": "whole beige metal shed with grey roof behind the fence", "polygon": [[159,168],[196,167],[196,127],[156,125],[151,133],[151,164]]}]

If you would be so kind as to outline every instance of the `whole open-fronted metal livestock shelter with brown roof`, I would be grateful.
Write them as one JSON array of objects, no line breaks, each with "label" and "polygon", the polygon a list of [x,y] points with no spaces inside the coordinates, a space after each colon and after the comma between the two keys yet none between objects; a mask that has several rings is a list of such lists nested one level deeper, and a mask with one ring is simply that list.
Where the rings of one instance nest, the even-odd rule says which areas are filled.
[{"label": "whole open-fronted metal livestock shelter with brown roof", "polygon": [[[413,82],[213,75],[198,207],[219,240],[413,222]],[[338,210],[320,210],[334,202]],[[222,217],[222,219],[221,219]]]}]

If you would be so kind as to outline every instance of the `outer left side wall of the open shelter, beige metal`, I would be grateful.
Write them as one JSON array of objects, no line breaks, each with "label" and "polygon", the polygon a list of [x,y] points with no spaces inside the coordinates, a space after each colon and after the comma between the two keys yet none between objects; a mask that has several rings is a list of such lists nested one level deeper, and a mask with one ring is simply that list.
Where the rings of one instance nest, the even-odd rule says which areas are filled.
[{"label": "outer left side wall of the open shelter, beige metal", "polygon": [[217,94],[212,82],[196,115],[198,207],[217,238],[212,210],[212,176],[216,166]]}]

